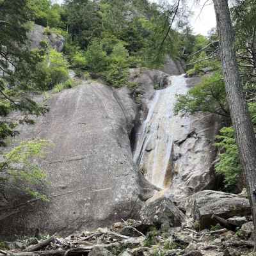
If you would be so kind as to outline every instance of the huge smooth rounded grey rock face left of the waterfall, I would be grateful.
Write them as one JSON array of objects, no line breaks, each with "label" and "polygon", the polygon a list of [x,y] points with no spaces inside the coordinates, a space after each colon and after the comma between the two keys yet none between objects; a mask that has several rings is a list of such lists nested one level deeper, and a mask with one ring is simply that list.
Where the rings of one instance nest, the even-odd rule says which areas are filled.
[{"label": "huge smooth rounded grey rock face left of the waterfall", "polygon": [[27,204],[7,193],[12,205],[1,205],[0,237],[70,234],[138,215],[141,188],[129,142],[136,105],[128,91],[82,84],[52,96],[49,106],[36,125],[20,128],[16,140],[54,143],[41,163],[51,201]]}]

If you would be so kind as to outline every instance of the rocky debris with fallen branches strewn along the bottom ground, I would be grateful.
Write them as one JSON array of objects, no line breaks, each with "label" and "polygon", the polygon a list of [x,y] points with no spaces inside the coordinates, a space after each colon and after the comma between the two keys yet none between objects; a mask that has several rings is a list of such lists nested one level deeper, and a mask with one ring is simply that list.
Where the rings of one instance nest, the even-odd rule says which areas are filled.
[{"label": "rocky debris with fallen branches strewn along the bottom ground", "polygon": [[164,231],[152,227],[139,237],[120,234],[125,226],[140,225],[141,221],[126,220],[113,224],[111,228],[97,228],[65,238],[47,237],[33,244],[33,248],[37,248],[33,252],[27,240],[19,241],[23,248],[10,251],[0,248],[0,256],[240,256],[253,250],[253,241],[240,239],[235,232],[228,230],[213,233],[209,230],[196,232],[186,227]]}]

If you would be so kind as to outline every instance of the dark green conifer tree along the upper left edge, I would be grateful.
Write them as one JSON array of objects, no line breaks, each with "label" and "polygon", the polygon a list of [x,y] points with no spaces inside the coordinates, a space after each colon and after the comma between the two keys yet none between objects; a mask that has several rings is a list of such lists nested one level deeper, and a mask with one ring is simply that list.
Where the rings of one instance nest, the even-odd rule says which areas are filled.
[{"label": "dark green conifer tree along the upper left edge", "polygon": [[6,137],[16,134],[18,121],[6,118],[10,111],[20,111],[19,122],[31,124],[30,115],[47,109],[30,96],[39,89],[34,74],[42,54],[28,47],[28,22],[33,19],[28,0],[0,1],[0,16],[0,145],[4,145]]}]

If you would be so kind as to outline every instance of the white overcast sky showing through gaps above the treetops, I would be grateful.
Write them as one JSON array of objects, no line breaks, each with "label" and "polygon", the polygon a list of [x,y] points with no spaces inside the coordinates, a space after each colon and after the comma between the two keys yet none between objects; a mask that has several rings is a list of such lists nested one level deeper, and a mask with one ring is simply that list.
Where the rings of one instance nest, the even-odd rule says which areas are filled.
[{"label": "white overcast sky showing through gaps above the treetops", "polygon": [[[53,0],[52,2],[62,3],[63,0]],[[189,0],[188,6],[190,10],[195,13],[195,15],[191,17],[191,26],[196,34],[207,35],[207,32],[216,26],[214,7],[213,4],[207,4],[202,9],[205,1],[200,2],[200,4],[195,4],[195,0]],[[201,9],[202,12],[200,12]]]}]

